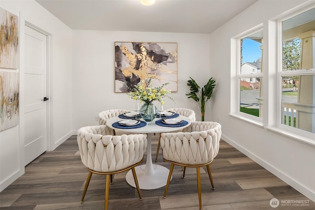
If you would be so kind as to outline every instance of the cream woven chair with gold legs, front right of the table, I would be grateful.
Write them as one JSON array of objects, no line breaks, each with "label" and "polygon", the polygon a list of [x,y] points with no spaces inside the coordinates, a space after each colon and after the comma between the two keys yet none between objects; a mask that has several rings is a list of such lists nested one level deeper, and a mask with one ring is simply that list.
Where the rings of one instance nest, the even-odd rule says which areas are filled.
[{"label": "cream woven chair with gold legs, front right of the table", "polygon": [[186,167],[196,167],[199,209],[202,209],[200,167],[207,167],[212,189],[215,189],[209,165],[219,152],[220,139],[221,124],[218,122],[194,121],[184,128],[183,132],[161,133],[163,160],[171,163],[164,198],[172,178],[174,165],[184,167],[183,178],[185,178]]}]

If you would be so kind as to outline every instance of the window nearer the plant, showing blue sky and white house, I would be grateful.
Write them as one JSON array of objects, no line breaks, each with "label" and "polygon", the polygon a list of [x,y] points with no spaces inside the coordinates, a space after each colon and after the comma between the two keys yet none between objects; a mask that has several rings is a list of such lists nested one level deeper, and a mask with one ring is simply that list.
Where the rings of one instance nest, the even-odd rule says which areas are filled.
[{"label": "window nearer the plant, showing blue sky and white house", "polygon": [[[237,74],[239,114],[257,120],[262,117],[262,30],[256,30],[238,39],[240,69]],[[259,120],[261,121],[261,119]]]}]

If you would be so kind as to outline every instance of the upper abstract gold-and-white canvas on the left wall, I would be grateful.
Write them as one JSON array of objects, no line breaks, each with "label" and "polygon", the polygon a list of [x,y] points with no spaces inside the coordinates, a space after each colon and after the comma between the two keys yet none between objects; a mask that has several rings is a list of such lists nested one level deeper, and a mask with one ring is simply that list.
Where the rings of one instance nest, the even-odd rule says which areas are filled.
[{"label": "upper abstract gold-and-white canvas on the left wall", "polygon": [[19,68],[18,16],[0,8],[0,68]]}]

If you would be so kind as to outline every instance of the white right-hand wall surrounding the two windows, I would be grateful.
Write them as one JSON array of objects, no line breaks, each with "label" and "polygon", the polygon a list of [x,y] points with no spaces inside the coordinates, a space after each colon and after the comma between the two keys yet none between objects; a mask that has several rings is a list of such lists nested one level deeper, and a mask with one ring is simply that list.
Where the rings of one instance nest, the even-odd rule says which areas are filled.
[{"label": "white right-hand wall surrounding the two windows", "polygon": [[[264,25],[263,71],[275,71],[270,59],[275,60],[276,47],[267,37],[268,33],[275,37],[275,32],[270,31],[271,26],[268,24],[271,23],[269,20],[302,2],[301,0],[259,0],[211,33],[210,69],[211,75],[218,81],[211,115],[214,119],[220,120],[223,140],[315,201],[314,146],[271,132],[263,126],[257,126],[230,116],[231,100],[232,103],[235,100],[236,86],[234,85],[236,85],[236,82],[232,82],[232,84],[225,82],[226,78],[231,78],[231,76],[235,78],[236,75],[236,66],[233,65],[236,56],[231,54],[231,50],[234,53],[236,53],[236,50],[231,48],[231,38],[259,24]],[[308,2],[308,5],[310,5],[310,2]],[[314,1],[312,2],[314,5]],[[276,74],[274,76],[276,77]],[[273,80],[274,78],[271,77],[269,82]],[[268,82],[268,78],[264,78],[264,81]],[[264,85],[264,102],[266,102],[266,104],[264,103],[264,125],[266,125],[265,121],[268,120],[268,117],[272,116],[270,115],[272,113],[268,113],[268,100],[270,103],[274,100],[274,95],[268,97],[268,92],[272,94],[271,92],[274,92],[274,90],[269,90],[268,85]]]}]

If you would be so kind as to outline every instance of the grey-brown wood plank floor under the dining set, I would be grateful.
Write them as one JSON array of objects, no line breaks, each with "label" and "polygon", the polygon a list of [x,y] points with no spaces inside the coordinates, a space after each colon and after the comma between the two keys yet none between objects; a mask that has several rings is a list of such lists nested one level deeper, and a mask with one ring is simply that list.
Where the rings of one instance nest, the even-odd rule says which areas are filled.
[{"label": "grey-brown wood plank floor under the dining set", "polygon": [[[152,139],[155,158],[158,135]],[[162,153],[158,164],[163,162]],[[240,151],[221,140],[218,156],[210,165],[215,190],[211,189],[204,169],[201,174],[203,210],[314,210],[315,203],[262,168]],[[188,168],[182,179],[181,167],[175,166],[166,198],[165,187],[141,190],[127,184],[126,173],[117,174],[109,190],[111,210],[198,210],[196,172]],[[76,136],[71,136],[54,151],[45,152],[30,163],[25,174],[0,192],[1,210],[102,210],[105,177],[93,175],[80,203],[88,171],[81,162]],[[278,208],[270,206],[277,198]],[[296,202],[304,202],[298,205]],[[285,204],[282,204],[284,202]],[[295,204],[289,205],[288,202]],[[308,204],[305,204],[308,202]]]}]

